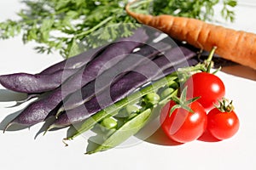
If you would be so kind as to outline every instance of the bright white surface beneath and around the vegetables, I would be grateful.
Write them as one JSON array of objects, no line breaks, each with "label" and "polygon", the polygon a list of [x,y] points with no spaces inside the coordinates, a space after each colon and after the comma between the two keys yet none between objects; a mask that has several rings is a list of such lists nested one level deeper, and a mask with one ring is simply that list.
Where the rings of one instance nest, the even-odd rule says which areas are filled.
[{"label": "bright white surface beneath and around the vegetables", "polygon": [[[251,1],[253,2],[253,1]],[[0,21],[15,18],[15,12],[21,8],[16,0],[0,2]],[[236,29],[256,32],[256,7],[239,6],[236,11]],[[36,54],[33,44],[23,45],[20,37],[0,41],[0,75],[13,72],[38,72],[61,57],[57,54]],[[234,71],[234,69],[231,71]],[[248,72],[247,72],[248,71]],[[246,73],[255,78],[255,71],[246,69]],[[113,149],[92,156],[84,156],[86,139],[74,139],[64,147],[61,139],[66,129],[39,135],[42,126],[38,124],[30,129],[13,132],[0,132],[0,167],[4,170],[15,169],[255,169],[256,161],[256,114],[255,85],[247,78],[219,72],[224,80],[227,97],[234,99],[236,112],[241,121],[239,132],[232,139],[209,143],[195,141],[182,145],[160,145],[142,142],[132,147]],[[255,79],[254,79],[255,80]],[[2,90],[2,91],[1,91]],[[17,94],[18,95],[18,94]],[[0,122],[9,114],[19,111],[25,105],[6,108],[13,102],[3,102],[11,98],[11,93],[3,94],[0,86]],[[0,125],[3,128],[3,123]]]}]

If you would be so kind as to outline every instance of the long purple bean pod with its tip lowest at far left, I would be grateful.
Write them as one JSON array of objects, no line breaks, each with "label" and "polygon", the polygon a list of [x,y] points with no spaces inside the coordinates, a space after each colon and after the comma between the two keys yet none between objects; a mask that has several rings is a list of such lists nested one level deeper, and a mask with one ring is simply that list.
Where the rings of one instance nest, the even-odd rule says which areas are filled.
[{"label": "long purple bean pod with its tip lowest at far left", "polygon": [[[73,77],[70,77],[61,87],[56,88],[49,96],[28,105],[20,115],[9,122],[6,128],[12,124],[32,126],[38,122],[43,122],[49,113],[53,111],[57,105],[60,105],[61,100],[65,99],[67,95],[72,94],[88,82],[96,79],[96,77],[102,73],[99,72],[102,71],[102,68],[108,70],[118,63],[119,60],[124,59],[125,54],[131,54],[134,48],[141,46],[147,39],[148,35],[145,31],[143,29],[137,29],[133,36],[123,38],[118,42],[113,42],[95,59],[90,61],[86,67],[76,72]],[[113,60],[114,58],[116,58],[116,60]],[[109,60],[113,62],[108,62]],[[108,65],[105,65],[106,63],[108,63]]]}]

